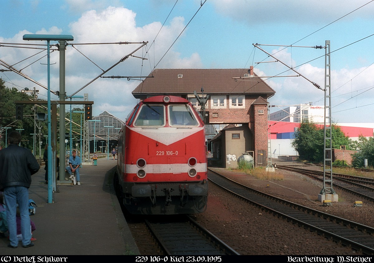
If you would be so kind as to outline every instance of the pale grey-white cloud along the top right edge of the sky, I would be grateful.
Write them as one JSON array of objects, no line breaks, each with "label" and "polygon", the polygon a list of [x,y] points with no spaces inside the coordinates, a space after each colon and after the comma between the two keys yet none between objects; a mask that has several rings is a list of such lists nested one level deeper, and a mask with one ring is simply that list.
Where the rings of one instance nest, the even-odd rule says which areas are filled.
[{"label": "pale grey-white cloud along the top right edge of the sky", "polygon": [[[251,25],[263,25],[275,22],[291,24],[326,24],[367,4],[367,0],[325,0],[295,1],[295,0],[213,0],[218,13],[228,16],[235,21]],[[345,19],[358,16],[372,19],[374,4],[368,4],[352,13]]]}]

